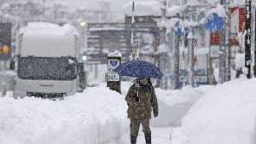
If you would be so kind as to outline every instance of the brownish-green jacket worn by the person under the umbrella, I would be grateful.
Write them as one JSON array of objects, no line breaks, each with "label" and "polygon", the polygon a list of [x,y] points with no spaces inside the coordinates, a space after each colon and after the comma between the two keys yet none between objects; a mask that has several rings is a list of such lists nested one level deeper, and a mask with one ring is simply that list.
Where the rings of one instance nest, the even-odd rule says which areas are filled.
[{"label": "brownish-green jacket worn by the person under the umbrella", "polygon": [[[138,97],[138,98],[137,98]],[[158,103],[151,84],[136,87],[131,85],[125,101],[128,103],[128,118],[131,119],[149,119],[153,108],[154,114],[158,115]]]}]

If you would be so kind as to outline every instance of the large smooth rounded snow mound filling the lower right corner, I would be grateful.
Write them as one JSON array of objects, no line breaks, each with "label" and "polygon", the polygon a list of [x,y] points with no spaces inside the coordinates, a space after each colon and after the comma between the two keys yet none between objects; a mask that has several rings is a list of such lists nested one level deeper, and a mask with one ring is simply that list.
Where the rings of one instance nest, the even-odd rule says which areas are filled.
[{"label": "large smooth rounded snow mound filling the lower right corner", "polygon": [[256,79],[218,85],[172,131],[172,144],[254,144]]}]

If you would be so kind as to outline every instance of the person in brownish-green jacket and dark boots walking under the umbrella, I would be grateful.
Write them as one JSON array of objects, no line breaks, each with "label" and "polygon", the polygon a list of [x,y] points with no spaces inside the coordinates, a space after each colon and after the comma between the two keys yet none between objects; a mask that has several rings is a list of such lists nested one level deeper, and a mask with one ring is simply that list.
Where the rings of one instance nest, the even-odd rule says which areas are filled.
[{"label": "person in brownish-green jacket and dark boots walking under the umbrella", "polygon": [[158,116],[158,103],[150,78],[140,78],[132,84],[125,96],[128,104],[128,118],[131,120],[131,144],[136,144],[140,124],[143,125],[146,144],[151,144],[149,121],[153,109],[154,117]]}]

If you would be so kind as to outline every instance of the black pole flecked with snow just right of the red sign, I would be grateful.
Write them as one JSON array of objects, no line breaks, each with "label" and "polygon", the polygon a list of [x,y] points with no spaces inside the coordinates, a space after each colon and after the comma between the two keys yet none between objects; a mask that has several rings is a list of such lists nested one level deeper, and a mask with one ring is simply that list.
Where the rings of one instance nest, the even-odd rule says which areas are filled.
[{"label": "black pole flecked with snow just right of the red sign", "polygon": [[245,66],[247,78],[251,78],[251,7],[252,0],[246,0]]}]

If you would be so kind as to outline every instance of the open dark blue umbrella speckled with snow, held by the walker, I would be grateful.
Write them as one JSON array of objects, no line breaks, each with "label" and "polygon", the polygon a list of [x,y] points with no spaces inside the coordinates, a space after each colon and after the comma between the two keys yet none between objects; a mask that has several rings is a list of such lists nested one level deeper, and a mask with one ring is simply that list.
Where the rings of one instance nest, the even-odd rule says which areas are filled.
[{"label": "open dark blue umbrella speckled with snow, held by the walker", "polygon": [[135,78],[161,78],[163,73],[154,64],[143,60],[130,60],[113,70],[120,76]]}]

